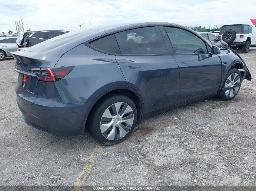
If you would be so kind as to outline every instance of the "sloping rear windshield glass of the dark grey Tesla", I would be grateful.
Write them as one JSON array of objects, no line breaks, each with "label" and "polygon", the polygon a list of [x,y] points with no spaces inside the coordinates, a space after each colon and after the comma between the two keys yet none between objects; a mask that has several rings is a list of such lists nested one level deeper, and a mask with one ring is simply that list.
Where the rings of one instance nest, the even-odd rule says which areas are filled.
[{"label": "sloping rear windshield glass of the dark grey Tesla", "polygon": [[100,32],[99,30],[77,30],[71,33],[66,33],[66,34],[62,34],[59,35],[58,37],[49,39],[49,40],[45,40],[42,43],[38,43],[34,46],[31,46],[27,49],[25,49],[25,51],[29,51],[29,52],[44,52],[44,51],[48,51],[48,50],[52,50],[54,48],[57,48],[59,46],[68,44],[74,40],[77,40],[79,38],[83,38],[86,36],[89,36],[91,34],[94,33],[98,33]]}]

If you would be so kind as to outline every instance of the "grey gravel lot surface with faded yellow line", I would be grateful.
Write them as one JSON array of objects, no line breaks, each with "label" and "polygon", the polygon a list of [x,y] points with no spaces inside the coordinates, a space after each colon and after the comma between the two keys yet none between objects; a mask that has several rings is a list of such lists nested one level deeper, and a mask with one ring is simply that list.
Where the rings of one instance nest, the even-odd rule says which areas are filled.
[{"label": "grey gravel lot surface with faded yellow line", "polygon": [[88,132],[58,137],[26,125],[14,59],[0,61],[0,185],[256,185],[256,48],[238,53],[253,79],[233,100],[151,116],[113,146]]}]

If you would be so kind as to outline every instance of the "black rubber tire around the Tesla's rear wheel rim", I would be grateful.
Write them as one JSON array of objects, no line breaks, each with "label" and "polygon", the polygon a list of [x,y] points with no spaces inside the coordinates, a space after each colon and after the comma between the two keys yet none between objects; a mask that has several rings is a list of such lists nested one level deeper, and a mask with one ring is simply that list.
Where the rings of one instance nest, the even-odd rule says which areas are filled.
[{"label": "black rubber tire around the Tesla's rear wheel rim", "polygon": [[[101,117],[106,109],[108,109],[112,104],[117,103],[117,102],[127,103],[133,111],[134,119],[133,119],[133,123],[132,123],[130,130],[127,132],[127,134],[124,137],[117,139],[117,140],[108,140],[101,133],[101,129],[100,129]],[[108,96],[105,99],[101,100],[100,103],[98,103],[97,106],[95,107],[95,109],[92,111],[91,117],[89,120],[90,121],[87,126],[89,133],[100,143],[103,143],[105,145],[114,145],[116,143],[120,143],[120,142],[124,141],[133,131],[136,121],[137,121],[137,109],[136,109],[135,104],[133,103],[133,101],[130,98],[120,95],[120,94],[115,94],[115,95]]]}]

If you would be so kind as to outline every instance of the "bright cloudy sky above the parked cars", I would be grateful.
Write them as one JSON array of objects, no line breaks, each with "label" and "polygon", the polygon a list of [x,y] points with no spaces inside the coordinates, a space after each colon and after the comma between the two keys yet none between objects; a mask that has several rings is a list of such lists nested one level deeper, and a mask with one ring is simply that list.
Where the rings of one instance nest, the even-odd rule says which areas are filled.
[{"label": "bright cloudy sky above the parked cars", "polygon": [[91,26],[155,21],[214,28],[251,24],[255,10],[255,0],[12,0],[0,4],[0,33],[16,32],[15,21],[21,19],[24,31],[74,31],[80,23],[89,27],[89,21]]}]

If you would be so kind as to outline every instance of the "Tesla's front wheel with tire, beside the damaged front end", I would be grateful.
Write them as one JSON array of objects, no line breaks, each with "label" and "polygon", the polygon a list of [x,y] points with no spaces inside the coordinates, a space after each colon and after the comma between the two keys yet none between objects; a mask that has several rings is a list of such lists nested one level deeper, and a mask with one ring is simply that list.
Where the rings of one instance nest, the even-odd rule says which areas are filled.
[{"label": "Tesla's front wheel with tire, beside the damaged front end", "polygon": [[231,100],[233,99],[240,90],[241,84],[239,82],[241,81],[241,73],[238,69],[231,68],[224,80],[224,84],[222,87],[228,88],[225,90],[221,90],[218,97],[222,100]]}]

